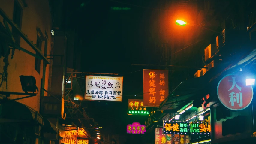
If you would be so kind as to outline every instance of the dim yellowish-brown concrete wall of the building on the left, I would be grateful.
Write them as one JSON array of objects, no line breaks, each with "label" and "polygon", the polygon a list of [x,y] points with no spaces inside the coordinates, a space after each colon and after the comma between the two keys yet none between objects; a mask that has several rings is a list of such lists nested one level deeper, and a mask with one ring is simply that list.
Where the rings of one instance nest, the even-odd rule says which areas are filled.
[{"label": "dim yellowish-brown concrete wall of the building on the left", "polygon": [[[21,0],[17,0],[21,1]],[[23,8],[22,14],[22,32],[27,35],[27,37],[36,44],[37,40],[37,27],[40,28],[41,32],[45,32],[48,35],[48,44],[47,44],[47,54],[50,54],[51,51],[51,14],[48,4],[48,0],[25,0],[27,7]],[[21,2],[22,3],[22,2]],[[10,19],[13,19],[14,11],[14,0],[0,0],[0,8],[5,11]],[[3,22],[3,17],[0,16],[0,21]],[[10,27],[11,29],[11,27]],[[42,53],[44,53],[44,41],[42,41]],[[20,46],[24,49],[29,50],[30,52],[35,53],[35,51],[21,38]],[[46,53],[44,53],[46,54]],[[31,75],[36,79],[36,85],[40,90],[41,87],[41,78],[43,73],[43,60],[41,60],[40,73],[35,70],[35,57],[19,50],[15,50],[14,58],[11,59],[11,53],[8,58],[8,78],[7,78],[7,89],[6,83],[3,83],[0,91],[11,91],[11,92],[22,92],[20,84],[20,75]],[[0,59],[0,73],[3,73],[3,57]],[[49,65],[46,67],[46,76],[45,76],[45,86],[48,87],[48,77],[49,77]],[[47,95],[47,93],[44,93]],[[19,98],[23,96],[11,95],[10,99]],[[27,106],[39,111],[39,102],[40,102],[40,92],[35,97],[25,98],[18,100],[18,102],[26,104]]]}]

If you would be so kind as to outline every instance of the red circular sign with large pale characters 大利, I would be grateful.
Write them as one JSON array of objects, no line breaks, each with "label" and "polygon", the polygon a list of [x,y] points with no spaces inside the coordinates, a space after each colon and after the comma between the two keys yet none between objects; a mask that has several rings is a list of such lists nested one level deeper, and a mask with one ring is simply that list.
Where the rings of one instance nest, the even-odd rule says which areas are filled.
[{"label": "red circular sign with large pale characters \u5927\u5229", "polygon": [[245,85],[245,76],[229,74],[224,76],[217,87],[220,102],[230,110],[243,110],[251,104],[252,86]]}]

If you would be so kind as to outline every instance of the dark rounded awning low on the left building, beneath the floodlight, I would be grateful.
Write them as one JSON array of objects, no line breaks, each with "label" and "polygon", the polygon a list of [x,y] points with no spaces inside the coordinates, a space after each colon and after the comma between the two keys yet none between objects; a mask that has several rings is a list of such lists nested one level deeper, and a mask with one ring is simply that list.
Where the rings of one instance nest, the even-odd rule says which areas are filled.
[{"label": "dark rounded awning low on the left building, beneath the floodlight", "polygon": [[6,101],[0,104],[0,123],[4,122],[37,122],[43,126],[43,117],[32,108],[17,101]]}]

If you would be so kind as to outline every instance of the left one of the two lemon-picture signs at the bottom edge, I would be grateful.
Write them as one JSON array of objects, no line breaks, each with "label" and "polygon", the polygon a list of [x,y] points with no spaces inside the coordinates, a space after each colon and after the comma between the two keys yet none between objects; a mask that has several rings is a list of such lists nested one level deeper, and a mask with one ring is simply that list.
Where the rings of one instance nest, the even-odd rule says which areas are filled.
[{"label": "left one of the two lemon-picture signs at the bottom edge", "polygon": [[163,128],[155,128],[155,144],[173,144],[173,135],[163,134]]}]

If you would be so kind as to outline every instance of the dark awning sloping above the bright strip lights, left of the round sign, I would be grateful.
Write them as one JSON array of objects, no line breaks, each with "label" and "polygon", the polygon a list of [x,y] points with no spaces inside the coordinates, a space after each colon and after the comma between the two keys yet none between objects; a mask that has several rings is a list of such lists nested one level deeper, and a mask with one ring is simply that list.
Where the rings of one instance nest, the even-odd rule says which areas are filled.
[{"label": "dark awning sloping above the bright strip lights, left of the round sign", "polygon": [[192,101],[195,97],[199,98],[198,92],[206,87],[207,77],[198,77],[181,82],[161,104],[160,110],[176,110]]}]

